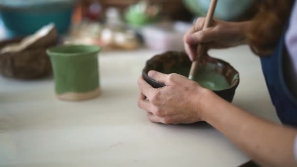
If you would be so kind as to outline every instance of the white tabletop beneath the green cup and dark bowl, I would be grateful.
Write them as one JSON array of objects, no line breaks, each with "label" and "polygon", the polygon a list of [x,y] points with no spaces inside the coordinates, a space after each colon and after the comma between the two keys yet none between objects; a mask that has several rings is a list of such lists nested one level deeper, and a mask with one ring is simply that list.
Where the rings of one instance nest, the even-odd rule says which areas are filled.
[{"label": "white tabletop beneath the green cup and dark bowl", "polygon": [[[137,78],[160,51],[100,54],[102,94],[55,98],[52,78],[0,77],[0,167],[233,167],[249,160],[207,124],[161,125],[137,107]],[[247,46],[212,50],[240,73],[233,103],[278,122],[259,58]]]}]

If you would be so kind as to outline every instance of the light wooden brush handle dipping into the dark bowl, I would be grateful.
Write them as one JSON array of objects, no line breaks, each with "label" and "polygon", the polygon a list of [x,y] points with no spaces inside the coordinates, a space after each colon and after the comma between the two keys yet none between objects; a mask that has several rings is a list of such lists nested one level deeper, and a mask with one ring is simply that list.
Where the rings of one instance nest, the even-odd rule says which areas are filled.
[{"label": "light wooden brush handle dipping into the dark bowl", "polygon": [[[202,30],[211,26],[216,3],[217,3],[217,0],[211,1],[211,4],[208,9]],[[191,70],[190,70],[190,74],[189,74],[190,79],[193,79],[193,76],[195,76],[195,72],[199,65],[199,61],[200,61],[201,57],[203,57],[204,55],[205,55],[205,45],[199,44],[197,47],[197,50],[196,50],[196,59],[195,59],[195,61],[192,62],[192,65],[191,65]]]}]

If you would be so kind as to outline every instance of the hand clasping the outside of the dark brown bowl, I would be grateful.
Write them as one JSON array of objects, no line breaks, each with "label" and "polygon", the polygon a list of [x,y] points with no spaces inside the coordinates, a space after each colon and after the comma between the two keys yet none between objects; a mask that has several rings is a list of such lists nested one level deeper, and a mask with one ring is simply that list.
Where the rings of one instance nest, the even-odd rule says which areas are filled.
[{"label": "hand clasping the outside of the dark brown bowl", "polygon": [[138,80],[138,106],[148,112],[152,122],[163,124],[190,124],[202,120],[200,100],[207,89],[178,74],[149,71],[148,76],[165,84],[151,87],[142,77]]}]

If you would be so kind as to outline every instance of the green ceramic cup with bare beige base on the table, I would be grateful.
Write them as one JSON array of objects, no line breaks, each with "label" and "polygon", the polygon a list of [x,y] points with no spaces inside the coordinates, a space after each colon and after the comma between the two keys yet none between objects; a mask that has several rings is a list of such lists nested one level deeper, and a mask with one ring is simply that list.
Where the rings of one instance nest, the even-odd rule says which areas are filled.
[{"label": "green ceramic cup with bare beige base on the table", "polygon": [[94,45],[62,45],[46,50],[59,99],[76,101],[99,95],[99,51],[100,48]]}]

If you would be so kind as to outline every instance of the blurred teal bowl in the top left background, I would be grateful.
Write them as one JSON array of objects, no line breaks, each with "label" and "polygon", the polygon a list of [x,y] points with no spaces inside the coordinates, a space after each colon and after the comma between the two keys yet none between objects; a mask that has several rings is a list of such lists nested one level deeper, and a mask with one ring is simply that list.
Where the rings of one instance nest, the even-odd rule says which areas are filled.
[{"label": "blurred teal bowl in the top left background", "polygon": [[68,30],[76,1],[6,0],[0,3],[0,15],[9,37],[33,34],[51,22],[61,34]]}]

